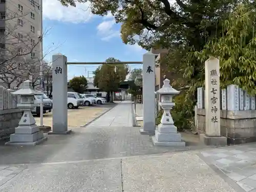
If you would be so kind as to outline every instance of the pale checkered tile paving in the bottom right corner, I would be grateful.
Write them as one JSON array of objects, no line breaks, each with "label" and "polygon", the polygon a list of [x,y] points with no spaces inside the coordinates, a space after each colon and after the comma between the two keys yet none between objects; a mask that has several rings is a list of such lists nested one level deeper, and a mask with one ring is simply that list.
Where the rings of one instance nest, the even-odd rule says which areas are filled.
[{"label": "pale checkered tile paving in the bottom right corner", "polygon": [[201,154],[243,191],[256,191],[256,143],[219,147]]}]

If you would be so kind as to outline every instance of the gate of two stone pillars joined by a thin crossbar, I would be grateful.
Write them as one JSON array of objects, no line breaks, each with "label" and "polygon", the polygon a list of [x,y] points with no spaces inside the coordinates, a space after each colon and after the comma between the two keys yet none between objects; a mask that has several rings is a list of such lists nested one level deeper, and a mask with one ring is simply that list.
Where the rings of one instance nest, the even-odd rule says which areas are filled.
[{"label": "gate of two stone pillars joined by a thin crossbar", "polygon": [[155,57],[156,54],[145,53],[143,61],[135,62],[68,62],[62,54],[52,56],[53,79],[53,122],[52,132],[49,134],[68,134],[68,68],[70,64],[101,65],[101,64],[143,64],[143,129],[141,134],[155,134]]}]

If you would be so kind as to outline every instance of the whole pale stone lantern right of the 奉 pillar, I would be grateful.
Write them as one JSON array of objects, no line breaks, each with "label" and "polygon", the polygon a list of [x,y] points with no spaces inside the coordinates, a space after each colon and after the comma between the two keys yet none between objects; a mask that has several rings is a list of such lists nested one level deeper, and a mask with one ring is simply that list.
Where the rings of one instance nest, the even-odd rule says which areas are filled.
[{"label": "whole pale stone lantern right of the \u5949 pillar", "polygon": [[158,125],[158,130],[155,131],[155,136],[152,137],[154,145],[185,146],[185,142],[181,141],[180,133],[177,133],[177,127],[174,125],[170,114],[170,110],[175,105],[173,96],[178,95],[180,92],[170,86],[169,79],[164,79],[163,87],[155,93],[161,97],[159,104],[164,112],[161,123]]}]

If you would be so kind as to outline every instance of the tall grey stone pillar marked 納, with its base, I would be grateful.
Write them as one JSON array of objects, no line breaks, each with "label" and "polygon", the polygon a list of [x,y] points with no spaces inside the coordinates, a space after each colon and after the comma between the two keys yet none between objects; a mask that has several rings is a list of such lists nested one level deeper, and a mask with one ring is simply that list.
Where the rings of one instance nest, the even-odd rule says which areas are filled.
[{"label": "tall grey stone pillar marked \u7d0d, with its base", "polygon": [[49,134],[68,134],[68,70],[67,57],[62,54],[52,56],[52,132]]}]

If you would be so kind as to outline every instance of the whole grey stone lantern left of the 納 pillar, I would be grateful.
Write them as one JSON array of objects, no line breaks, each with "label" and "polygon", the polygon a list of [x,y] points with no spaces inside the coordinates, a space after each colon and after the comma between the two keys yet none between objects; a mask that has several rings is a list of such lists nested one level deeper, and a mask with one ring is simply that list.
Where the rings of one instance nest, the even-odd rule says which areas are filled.
[{"label": "whole grey stone lantern left of the \u7d0d pillar", "polygon": [[10,141],[6,145],[36,145],[46,140],[44,132],[39,131],[39,127],[35,124],[31,110],[34,108],[34,95],[38,91],[32,89],[32,82],[26,80],[22,84],[22,88],[12,92],[11,94],[18,95],[17,107],[24,110],[24,114],[20,119],[18,126],[15,128],[15,133],[11,134]]}]

